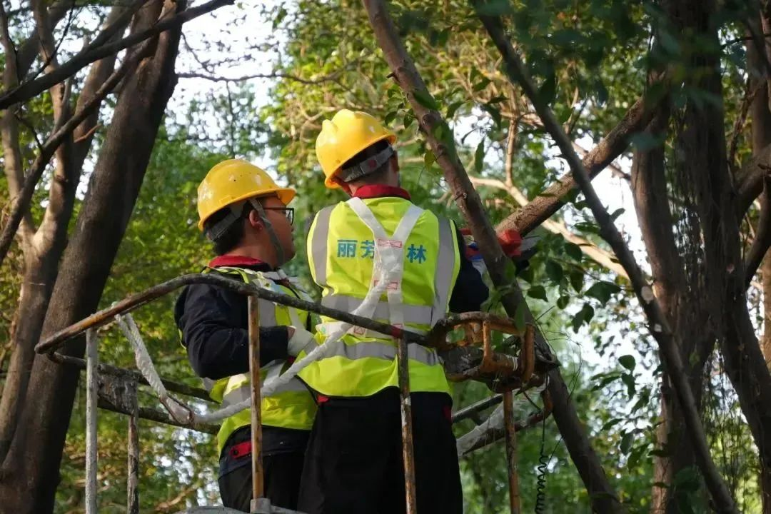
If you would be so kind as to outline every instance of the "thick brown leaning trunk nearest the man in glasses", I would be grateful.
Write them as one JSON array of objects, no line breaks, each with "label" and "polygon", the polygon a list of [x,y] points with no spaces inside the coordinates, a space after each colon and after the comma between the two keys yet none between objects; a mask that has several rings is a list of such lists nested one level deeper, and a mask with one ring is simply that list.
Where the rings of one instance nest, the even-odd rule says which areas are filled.
[{"label": "thick brown leaning trunk nearest the man in glasses", "polygon": [[[162,2],[150,5],[140,14],[148,23],[157,19]],[[167,1],[163,7],[180,11],[184,2]],[[43,334],[72,324],[99,304],[176,85],[179,39],[179,28],[158,36],[150,55],[123,84],[62,260]],[[63,353],[82,357],[83,341],[66,345]],[[79,371],[36,356],[27,395],[34,401],[25,402],[19,425],[23,429],[13,438],[0,483],[0,502],[8,512],[52,512],[78,378]]]}]

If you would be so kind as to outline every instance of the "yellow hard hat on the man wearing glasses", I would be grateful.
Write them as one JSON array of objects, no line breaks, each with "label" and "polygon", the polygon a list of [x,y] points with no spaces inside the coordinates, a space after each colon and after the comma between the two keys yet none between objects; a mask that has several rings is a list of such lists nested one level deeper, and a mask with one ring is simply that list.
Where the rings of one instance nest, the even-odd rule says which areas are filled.
[{"label": "yellow hard hat on the man wearing glasses", "polygon": [[198,229],[218,210],[233,203],[254,197],[275,194],[287,205],[295,197],[295,190],[279,187],[268,173],[245,160],[224,160],[209,170],[198,185]]}]

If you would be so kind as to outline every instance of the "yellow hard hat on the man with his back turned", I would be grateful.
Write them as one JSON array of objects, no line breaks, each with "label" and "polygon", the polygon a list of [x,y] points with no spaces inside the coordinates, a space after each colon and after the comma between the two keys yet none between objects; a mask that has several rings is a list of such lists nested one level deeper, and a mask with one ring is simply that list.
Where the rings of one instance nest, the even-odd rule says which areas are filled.
[{"label": "yellow hard hat on the man with his back turned", "polygon": [[341,109],[331,120],[325,119],[316,138],[316,157],[326,176],[324,185],[331,189],[339,187],[332,178],[340,166],[382,139],[393,144],[396,135],[367,113]]}]

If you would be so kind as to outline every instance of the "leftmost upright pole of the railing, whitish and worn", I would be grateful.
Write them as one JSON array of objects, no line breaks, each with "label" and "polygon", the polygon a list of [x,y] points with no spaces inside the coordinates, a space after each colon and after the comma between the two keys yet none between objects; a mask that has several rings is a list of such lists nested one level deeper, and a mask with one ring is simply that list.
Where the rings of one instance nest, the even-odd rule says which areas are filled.
[{"label": "leftmost upright pole of the railing, whitish and worn", "polygon": [[96,514],[96,395],[99,388],[96,331],[86,332],[86,514]]}]

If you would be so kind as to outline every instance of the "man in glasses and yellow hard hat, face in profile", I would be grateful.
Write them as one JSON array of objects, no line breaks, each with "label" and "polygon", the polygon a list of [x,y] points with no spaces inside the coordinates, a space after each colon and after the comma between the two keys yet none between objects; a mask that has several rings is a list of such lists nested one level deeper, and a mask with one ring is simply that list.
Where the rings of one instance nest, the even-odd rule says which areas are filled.
[{"label": "man in glasses and yellow hard hat, face in profile", "polygon": [[[243,160],[214,166],[198,186],[198,228],[217,257],[204,273],[232,277],[283,294],[310,298],[281,265],[295,255],[295,191]],[[260,300],[260,364],[263,382],[281,375],[288,361],[312,343],[308,312]],[[190,364],[214,400],[233,405],[250,398],[247,298],[210,284],[186,287],[175,319]],[[273,506],[295,509],[315,402],[294,378],[262,398],[265,496]],[[217,434],[219,484],[224,506],[249,512],[251,415],[226,418]]]}]

